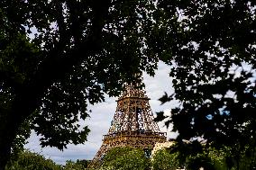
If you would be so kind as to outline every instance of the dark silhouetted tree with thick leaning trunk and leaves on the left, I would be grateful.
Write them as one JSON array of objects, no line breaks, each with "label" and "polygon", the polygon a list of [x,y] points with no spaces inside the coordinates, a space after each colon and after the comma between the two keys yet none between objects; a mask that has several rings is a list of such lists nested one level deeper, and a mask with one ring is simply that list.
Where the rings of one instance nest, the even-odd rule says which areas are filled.
[{"label": "dark silhouetted tree with thick leaning trunk and leaves on the left", "polygon": [[[153,75],[151,0],[0,2],[0,169],[24,121],[41,146],[87,139],[87,104]],[[5,137],[5,138],[4,138]],[[5,140],[4,140],[5,139]]]}]

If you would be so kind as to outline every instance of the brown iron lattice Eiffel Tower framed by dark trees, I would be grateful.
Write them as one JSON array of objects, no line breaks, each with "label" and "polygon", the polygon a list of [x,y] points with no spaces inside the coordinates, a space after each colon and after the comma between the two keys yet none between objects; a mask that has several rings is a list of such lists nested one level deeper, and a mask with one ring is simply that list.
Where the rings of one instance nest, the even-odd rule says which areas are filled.
[{"label": "brown iron lattice Eiffel Tower framed by dark trees", "polygon": [[118,98],[114,119],[108,133],[103,137],[103,144],[97,151],[89,167],[101,164],[105,153],[116,147],[142,148],[151,152],[157,142],[166,141],[166,133],[160,132],[149,103],[150,98],[142,89],[126,85]]}]

